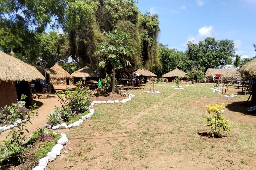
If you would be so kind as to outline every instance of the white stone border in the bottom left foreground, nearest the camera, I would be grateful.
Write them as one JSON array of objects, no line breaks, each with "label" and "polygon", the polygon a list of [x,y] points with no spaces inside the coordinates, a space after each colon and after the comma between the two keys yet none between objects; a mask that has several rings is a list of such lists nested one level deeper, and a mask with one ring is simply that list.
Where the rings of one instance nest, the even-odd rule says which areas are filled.
[{"label": "white stone border in the bottom left foreground, nearest the camera", "polygon": [[[57,134],[53,132],[54,134]],[[68,142],[67,135],[64,133],[60,133],[61,138],[57,141],[57,144],[55,144],[52,147],[52,150],[47,153],[46,157],[43,157],[38,160],[38,165],[34,167],[32,170],[44,170],[48,164],[48,162],[52,162],[56,159],[57,156],[60,155],[60,151],[63,149],[63,145],[65,145]]]}]

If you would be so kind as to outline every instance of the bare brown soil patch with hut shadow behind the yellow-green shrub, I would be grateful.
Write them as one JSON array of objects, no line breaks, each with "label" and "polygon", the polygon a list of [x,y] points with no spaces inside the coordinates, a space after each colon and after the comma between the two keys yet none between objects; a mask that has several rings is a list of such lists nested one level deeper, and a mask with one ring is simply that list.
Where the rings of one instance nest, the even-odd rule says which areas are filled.
[{"label": "bare brown soil patch with hut shadow behind the yellow-green shrub", "polygon": [[233,122],[243,123],[250,126],[256,126],[256,114],[249,114],[247,109],[251,107],[246,105],[247,98],[245,97],[235,97],[235,98],[226,98],[226,97],[212,97],[212,98],[203,98],[197,101],[188,103],[193,108],[206,111],[206,105],[209,104],[221,104],[225,103],[226,109],[224,109],[223,116],[225,119],[231,120]]}]

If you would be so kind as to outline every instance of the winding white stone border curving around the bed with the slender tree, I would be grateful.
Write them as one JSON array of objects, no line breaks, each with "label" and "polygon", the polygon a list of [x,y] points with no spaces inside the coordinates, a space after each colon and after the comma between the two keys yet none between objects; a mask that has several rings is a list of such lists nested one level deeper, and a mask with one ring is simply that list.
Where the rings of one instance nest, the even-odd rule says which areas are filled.
[{"label": "winding white stone border curving around the bed with the slender tree", "polygon": [[[86,119],[91,118],[91,116],[94,114],[94,109],[91,109],[91,107],[93,107],[95,104],[126,103],[126,102],[130,101],[132,98],[135,97],[135,95],[133,95],[131,93],[123,93],[123,92],[120,92],[120,93],[124,94],[124,95],[128,95],[128,98],[120,100],[120,101],[119,100],[114,100],[114,101],[113,100],[108,100],[108,101],[92,101],[91,105],[88,107],[90,112],[87,115],[82,116],[82,119],[79,119],[78,121],[76,121],[73,124],[70,124],[68,126],[67,126],[66,123],[62,123],[61,125],[53,126],[51,129],[53,129],[53,130],[58,129],[58,128],[66,129],[66,128],[72,128],[72,127],[79,126],[81,123],[83,123],[83,121],[85,121]],[[47,124],[45,125],[45,127],[50,129],[50,126],[48,126]]]}]

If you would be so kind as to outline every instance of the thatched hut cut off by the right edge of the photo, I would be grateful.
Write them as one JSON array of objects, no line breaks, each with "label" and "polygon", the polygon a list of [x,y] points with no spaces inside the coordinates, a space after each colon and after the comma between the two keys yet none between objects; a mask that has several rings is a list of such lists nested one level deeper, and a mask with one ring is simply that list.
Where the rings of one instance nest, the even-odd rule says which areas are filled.
[{"label": "thatched hut cut off by the right edge of the photo", "polygon": [[240,73],[249,79],[253,79],[252,105],[256,106],[256,58],[245,63],[240,69]]}]

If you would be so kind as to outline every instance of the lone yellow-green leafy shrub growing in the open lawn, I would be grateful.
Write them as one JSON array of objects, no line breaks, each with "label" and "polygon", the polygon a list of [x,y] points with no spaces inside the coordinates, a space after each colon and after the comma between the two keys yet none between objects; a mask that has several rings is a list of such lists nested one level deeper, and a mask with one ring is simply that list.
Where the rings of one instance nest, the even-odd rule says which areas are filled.
[{"label": "lone yellow-green leafy shrub growing in the open lawn", "polygon": [[225,120],[222,117],[222,113],[224,113],[225,104],[222,103],[221,105],[216,104],[215,106],[205,106],[207,107],[207,112],[210,114],[210,116],[207,118],[207,126],[211,128],[209,134],[212,137],[219,137],[223,136],[219,133],[220,130],[230,131],[231,128],[229,126],[229,121]]}]

